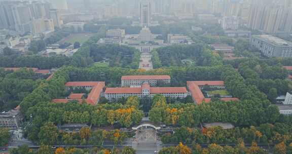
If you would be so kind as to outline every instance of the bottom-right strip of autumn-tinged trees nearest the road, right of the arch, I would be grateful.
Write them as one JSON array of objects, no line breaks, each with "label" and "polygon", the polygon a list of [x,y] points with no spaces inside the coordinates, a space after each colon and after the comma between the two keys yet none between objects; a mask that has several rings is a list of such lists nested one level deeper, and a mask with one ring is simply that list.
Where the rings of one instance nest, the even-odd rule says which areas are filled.
[{"label": "bottom-right strip of autumn-tinged trees nearest the road, right of the arch", "polygon": [[289,144],[291,141],[290,125],[284,123],[261,124],[259,127],[250,126],[249,128],[235,127],[233,129],[223,129],[221,127],[187,128],[181,127],[175,130],[174,134],[166,133],[162,135],[163,143],[184,142],[191,144],[232,144],[238,139],[243,139],[245,143],[252,142],[263,144],[278,144],[284,142]]}]

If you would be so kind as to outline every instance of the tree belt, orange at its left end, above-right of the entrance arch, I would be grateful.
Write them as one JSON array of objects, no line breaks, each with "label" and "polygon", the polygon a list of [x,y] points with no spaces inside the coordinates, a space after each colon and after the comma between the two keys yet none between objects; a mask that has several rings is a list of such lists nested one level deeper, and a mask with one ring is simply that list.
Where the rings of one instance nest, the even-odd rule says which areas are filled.
[{"label": "tree belt, orange at its left end, above-right of the entrance arch", "polygon": [[196,127],[200,123],[230,122],[236,125],[275,123],[279,119],[277,106],[269,101],[243,100],[195,104],[166,104],[163,96],[153,99],[149,118],[155,123]]}]

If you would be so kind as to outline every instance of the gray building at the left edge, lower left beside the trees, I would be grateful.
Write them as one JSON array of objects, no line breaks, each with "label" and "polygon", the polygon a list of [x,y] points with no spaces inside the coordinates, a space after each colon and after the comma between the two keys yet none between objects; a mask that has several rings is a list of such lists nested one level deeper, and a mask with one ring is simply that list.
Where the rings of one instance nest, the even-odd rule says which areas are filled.
[{"label": "gray building at the left edge, lower left beside the trees", "polygon": [[8,112],[0,113],[0,127],[8,128],[11,130],[19,129],[23,117],[20,110],[11,110]]}]

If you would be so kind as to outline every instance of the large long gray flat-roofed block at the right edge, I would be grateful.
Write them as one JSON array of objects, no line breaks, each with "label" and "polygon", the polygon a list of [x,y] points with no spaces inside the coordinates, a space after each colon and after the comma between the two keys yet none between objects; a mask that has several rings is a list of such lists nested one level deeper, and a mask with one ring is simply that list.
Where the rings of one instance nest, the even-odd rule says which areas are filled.
[{"label": "large long gray flat-roofed block at the right edge", "polygon": [[267,57],[292,57],[292,43],[272,35],[253,35],[250,45]]}]

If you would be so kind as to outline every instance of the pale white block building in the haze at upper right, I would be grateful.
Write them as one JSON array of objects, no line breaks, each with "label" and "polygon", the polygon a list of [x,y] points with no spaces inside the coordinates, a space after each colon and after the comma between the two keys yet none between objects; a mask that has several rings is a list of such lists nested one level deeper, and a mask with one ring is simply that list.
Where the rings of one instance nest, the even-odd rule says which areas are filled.
[{"label": "pale white block building in the haze at upper right", "polygon": [[239,28],[240,24],[240,17],[223,17],[222,19],[219,20],[219,23],[221,24],[221,27],[224,30],[231,29],[231,30],[236,30]]}]

